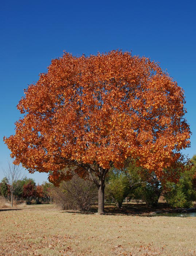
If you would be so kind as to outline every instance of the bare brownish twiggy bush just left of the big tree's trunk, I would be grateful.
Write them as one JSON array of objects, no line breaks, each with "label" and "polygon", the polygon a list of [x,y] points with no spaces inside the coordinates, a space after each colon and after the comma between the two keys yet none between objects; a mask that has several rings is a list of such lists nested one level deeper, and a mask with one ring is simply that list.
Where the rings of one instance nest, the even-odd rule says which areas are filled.
[{"label": "bare brownish twiggy bush just left of the big tree's trunk", "polygon": [[51,189],[51,197],[63,210],[88,211],[97,199],[97,187],[89,180],[73,176],[72,180],[61,182]]}]

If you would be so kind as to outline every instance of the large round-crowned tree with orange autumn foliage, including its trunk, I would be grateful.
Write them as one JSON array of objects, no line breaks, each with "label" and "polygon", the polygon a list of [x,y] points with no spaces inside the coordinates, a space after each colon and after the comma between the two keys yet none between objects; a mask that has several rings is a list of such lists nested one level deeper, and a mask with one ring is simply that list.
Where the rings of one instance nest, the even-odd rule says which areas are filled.
[{"label": "large round-crowned tree with orange autumn foliage, including its trunk", "polygon": [[54,183],[88,176],[98,187],[100,214],[112,166],[136,159],[160,177],[190,143],[182,88],[158,64],[129,52],[65,53],[24,93],[24,116],[4,138],[15,163],[50,171]]}]

